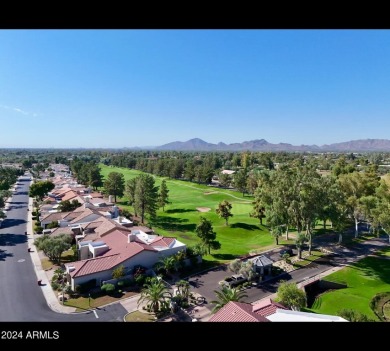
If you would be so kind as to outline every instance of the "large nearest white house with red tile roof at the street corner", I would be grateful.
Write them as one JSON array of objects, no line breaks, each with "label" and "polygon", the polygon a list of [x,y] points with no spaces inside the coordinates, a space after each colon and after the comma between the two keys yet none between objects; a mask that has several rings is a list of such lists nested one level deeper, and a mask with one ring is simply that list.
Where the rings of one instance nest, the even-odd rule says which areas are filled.
[{"label": "large nearest white house with red tile roof at the street corner", "polygon": [[151,268],[162,257],[185,250],[186,245],[175,238],[149,235],[140,230],[132,232],[115,229],[102,238],[79,242],[80,261],[65,265],[72,289],[96,279],[100,285],[112,278],[112,271],[123,265],[127,272],[138,265]]}]

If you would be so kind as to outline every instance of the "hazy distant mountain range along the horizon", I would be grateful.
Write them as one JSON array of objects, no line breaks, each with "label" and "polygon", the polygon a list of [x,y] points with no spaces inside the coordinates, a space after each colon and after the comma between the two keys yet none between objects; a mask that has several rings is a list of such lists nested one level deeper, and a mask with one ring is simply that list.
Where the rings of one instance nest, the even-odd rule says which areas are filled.
[{"label": "hazy distant mountain range along the horizon", "polygon": [[340,151],[340,152],[368,152],[390,151],[390,140],[387,139],[361,139],[329,145],[292,145],[287,143],[272,144],[264,139],[244,141],[242,143],[225,144],[208,143],[202,139],[194,138],[188,141],[174,141],[157,146],[157,150],[176,151]]}]

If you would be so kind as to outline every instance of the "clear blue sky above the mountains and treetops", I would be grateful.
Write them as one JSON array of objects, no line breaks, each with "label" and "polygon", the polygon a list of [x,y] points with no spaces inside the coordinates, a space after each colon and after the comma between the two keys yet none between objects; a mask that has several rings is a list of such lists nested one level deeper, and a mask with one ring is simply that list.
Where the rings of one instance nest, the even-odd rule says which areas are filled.
[{"label": "clear blue sky above the mountains and treetops", "polygon": [[389,30],[0,30],[0,147],[390,138]]}]

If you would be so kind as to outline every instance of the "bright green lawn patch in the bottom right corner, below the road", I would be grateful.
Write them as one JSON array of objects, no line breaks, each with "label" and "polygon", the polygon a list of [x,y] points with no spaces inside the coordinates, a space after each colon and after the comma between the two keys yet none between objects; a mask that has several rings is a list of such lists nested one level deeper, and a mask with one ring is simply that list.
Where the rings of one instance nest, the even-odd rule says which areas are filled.
[{"label": "bright green lawn patch in the bottom right corner, below the road", "polygon": [[369,304],[375,294],[390,291],[390,260],[366,257],[327,276],[326,280],[347,284],[348,287],[322,294],[314,302],[313,312],[337,315],[345,308],[378,320]]}]

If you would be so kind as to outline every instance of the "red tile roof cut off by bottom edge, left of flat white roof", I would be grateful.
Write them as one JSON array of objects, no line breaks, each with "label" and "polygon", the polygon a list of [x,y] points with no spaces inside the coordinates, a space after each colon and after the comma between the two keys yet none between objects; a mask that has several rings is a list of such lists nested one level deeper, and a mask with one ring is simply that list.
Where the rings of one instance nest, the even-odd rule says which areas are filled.
[{"label": "red tile roof cut off by bottom edge, left of flat white roof", "polygon": [[251,304],[230,301],[216,312],[209,322],[269,322],[269,320],[254,313]]}]

